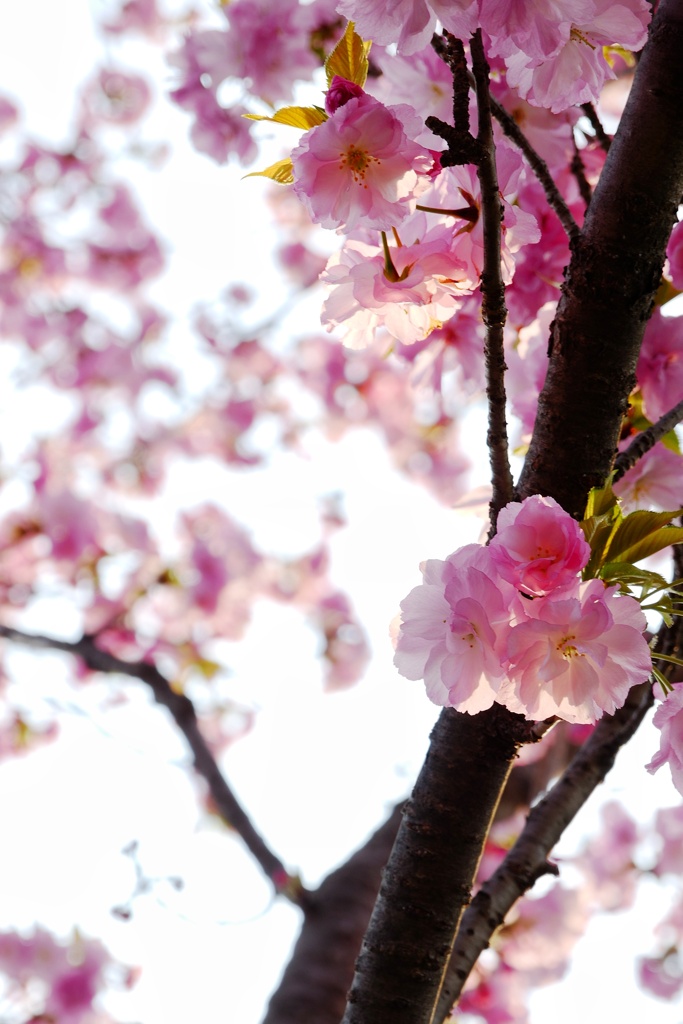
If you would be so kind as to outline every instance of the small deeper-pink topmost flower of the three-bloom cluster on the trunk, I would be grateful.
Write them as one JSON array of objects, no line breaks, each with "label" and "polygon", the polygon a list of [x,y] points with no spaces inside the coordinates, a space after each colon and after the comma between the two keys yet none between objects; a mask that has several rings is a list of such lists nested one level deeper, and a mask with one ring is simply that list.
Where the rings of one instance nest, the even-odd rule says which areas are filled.
[{"label": "small deeper-pink topmost flower of the three-bloom cluster on the trunk", "polygon": [[530,597],[573,583],[591,556],[575,519],[541,495],[501,509],[489,550],[503,579]]}]

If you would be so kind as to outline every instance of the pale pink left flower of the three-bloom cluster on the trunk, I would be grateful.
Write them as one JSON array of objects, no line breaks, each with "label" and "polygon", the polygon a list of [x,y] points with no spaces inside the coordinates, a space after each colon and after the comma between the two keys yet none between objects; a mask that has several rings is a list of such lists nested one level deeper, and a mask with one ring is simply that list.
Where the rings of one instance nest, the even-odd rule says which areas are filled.
[{"label": "pale pink left flower of the three-bloom cluster on the trunk", "polygon": [[434,703],[484,711],[505,677],[501,651],[516,594],[477,544],[422,571],[424,582],[400,605],[394,665],[407,679],[424,679]]}]

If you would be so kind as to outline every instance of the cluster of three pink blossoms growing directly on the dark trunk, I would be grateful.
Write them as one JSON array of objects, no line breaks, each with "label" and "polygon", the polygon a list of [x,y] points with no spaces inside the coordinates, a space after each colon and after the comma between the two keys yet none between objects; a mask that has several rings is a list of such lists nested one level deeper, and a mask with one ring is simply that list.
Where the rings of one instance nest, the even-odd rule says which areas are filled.
[{"label": "cluster of three pink blossoms growing directly on the dark trunk", "polygon": [[400,606],[396,668],[469,714],[494,701],[536,721],[613,713],[652,668],[638,601],[582,581],[590,547],[552,498],[510,503],[498,527],[487,547],[423,564]]}]

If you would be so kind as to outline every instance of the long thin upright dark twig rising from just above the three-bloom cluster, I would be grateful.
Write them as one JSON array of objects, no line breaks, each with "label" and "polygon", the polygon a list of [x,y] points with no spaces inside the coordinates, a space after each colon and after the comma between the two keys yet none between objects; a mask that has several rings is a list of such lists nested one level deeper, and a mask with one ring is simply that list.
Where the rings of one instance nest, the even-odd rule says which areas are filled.
[{"label": "long thin upright dark twig rising from just above the three-bloom cluster", "polygon": [[486,397],[488,399],[488,431],[486,443],[490,460],[492,484],[490,536],[496,532],[498,513],[514,498],[510,470],[508,425],[505,411],[505,352],[503,331],[508,314],[505,305],[505,285],[501,271],[501,224],[503,207],[496,170],[496,146],[490,120],[488,65],[481,41],[481,32],[472,36],[472,70],[477,95],[480,158],[477,177],[481,187],[483,225],[483,269],[481,271],[481,316],[486,329],[484,356],[486,364]]}]

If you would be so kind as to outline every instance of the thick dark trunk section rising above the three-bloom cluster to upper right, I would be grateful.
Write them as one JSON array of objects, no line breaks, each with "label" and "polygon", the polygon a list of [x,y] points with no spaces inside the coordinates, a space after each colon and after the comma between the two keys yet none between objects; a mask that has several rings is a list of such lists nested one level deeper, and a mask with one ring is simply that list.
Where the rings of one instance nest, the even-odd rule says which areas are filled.
[{"label": "thick dark trunk section rising above the three-bloom cluster to upper right", "polygon": [[661,0],[551,329],[519,481],[582,515],[606,479],[683,194],[683,6]]}]

